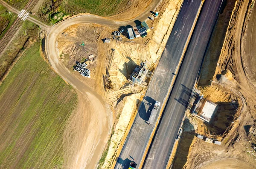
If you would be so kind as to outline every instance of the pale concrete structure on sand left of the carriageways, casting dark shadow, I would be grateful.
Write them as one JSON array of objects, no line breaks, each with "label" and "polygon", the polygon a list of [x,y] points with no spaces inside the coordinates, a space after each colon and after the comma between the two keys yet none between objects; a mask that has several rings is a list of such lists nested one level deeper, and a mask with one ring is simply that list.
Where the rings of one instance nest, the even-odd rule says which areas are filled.
[{"label": "pale concrete structure on sand left of the carriageways, casting dark shadow", "polygon": [[142,63],[140,63],[140,66],[139,65],[136,66],[136,68],[132,72],[129,80],[132,83],[140,85],[143,83],[147,74],[148,74],[147,66],[144,62],[142,62]]}]

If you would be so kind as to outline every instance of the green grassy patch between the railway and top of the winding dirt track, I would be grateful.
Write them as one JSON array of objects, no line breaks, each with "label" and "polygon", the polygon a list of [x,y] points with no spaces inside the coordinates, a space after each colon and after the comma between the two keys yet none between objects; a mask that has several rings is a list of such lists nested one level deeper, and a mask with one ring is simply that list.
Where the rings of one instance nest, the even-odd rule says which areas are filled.
[{"label": "green grassy patch between the railway and top of the winding dirt track", "polygon": [[45,0],[37,15],[44,22],[54,24],[66,15],[86,12],[100,16],[117,14],[127,3],[128,0]]}]

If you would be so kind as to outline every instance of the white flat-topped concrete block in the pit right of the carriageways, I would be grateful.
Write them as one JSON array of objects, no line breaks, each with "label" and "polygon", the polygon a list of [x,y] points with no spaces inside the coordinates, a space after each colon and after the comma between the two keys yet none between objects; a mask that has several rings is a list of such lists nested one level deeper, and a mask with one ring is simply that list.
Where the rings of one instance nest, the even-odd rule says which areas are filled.
[{"label": "white flat-topped concrete block in the pit right of the carriageways", "polygon": [[204,103],[203,109],[201,110],[200,113],[198,113],[196,115],[196,117],[209,123],[212,118],[212,115],[214,114],[214,112],[216,110],[216,107],[217,107],[217,104],[215,104],[209,100],[206,100],[206,102]]}]

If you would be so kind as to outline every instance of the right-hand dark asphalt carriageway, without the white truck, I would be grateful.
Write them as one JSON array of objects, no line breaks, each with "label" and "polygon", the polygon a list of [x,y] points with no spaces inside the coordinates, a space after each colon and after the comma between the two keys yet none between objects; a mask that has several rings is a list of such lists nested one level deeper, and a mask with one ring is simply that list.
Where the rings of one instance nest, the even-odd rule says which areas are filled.
[{"label": "right-hand dark asphalt carriageway, without the white truck", "polygon": [[145,169],[166,168],[221,3],[222,0],[205,0],[204,2],[175,85],[145,160],[143,167]]}]

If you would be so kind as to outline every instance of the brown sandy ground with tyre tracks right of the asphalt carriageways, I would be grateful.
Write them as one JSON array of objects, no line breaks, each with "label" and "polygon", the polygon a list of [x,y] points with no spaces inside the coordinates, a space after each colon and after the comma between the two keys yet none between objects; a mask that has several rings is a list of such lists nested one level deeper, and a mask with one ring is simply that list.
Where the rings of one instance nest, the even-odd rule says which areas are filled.
[{"label": "brown sandy ground with tyre tracks right of the asphalt carriageways", "polygon": [[[246,131],[246,126],[253,125],[256,119],[254,99],[256,88],[252,66],[254,60],[250,55],[255,48],[255,36],[251,31],[255,18],[253,17],[255,7],[252,4],[249,0],[236,1],[216,69],[212,66],[215,69],[215,74],[212,75],[214,81],[210,86],[199,87],[214,102],[236,102],[237,100],[239,106],[236,113],[232,115],[230,124],[225,124],[227,121],[225,118],[230,117],[218,116],[219,119],[214,119],[218,123],[223,123],[223,129],[226,128],[222,134],[210,132],[212,129],[218,129],[217,126],[212,128],[197,120],[190,121],[189,126],[192,126],[193,131],[221,140],[221,146],[209,144],[194,137],[188,141],[191,146],[187,150],[188,158],[183,168],[256,168],[255,152],[252,150],[255,136],[248,136]],[[211,73],[212,70],[209,72]],[[204,74],[203,77],[210,76]],[[218,114],[224,115],[223,113],[230,110],[235,109],[225,107]]]}]

